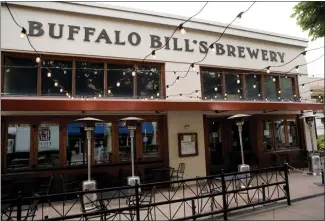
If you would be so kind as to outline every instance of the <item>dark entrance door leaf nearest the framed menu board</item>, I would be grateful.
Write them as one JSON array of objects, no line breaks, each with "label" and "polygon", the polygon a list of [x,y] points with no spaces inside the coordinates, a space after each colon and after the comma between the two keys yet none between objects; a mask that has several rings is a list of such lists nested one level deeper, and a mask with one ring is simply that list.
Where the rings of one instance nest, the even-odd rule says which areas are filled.
[{"label": "dark entrance door leaf nearest the framed menu board", "polygon": [[[210,175],[217,174],[224,169],[224,151],[222,139],[222,124],[213,119],[208,120],[207,148],[210,154]],[[209,165],[210,164],[210,165]]]}]

